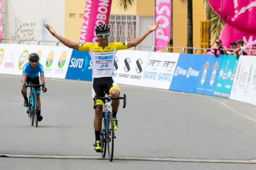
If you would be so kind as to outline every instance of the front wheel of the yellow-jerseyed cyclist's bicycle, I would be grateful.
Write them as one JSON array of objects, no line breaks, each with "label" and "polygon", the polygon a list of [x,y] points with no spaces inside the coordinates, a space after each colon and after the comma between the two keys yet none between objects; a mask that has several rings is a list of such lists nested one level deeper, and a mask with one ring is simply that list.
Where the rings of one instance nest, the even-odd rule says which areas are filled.
[{"label": "front wheel of the yellow-jerseyed cyclist's bicycle", "polygon": [[108,131],[107,131],[107,149],[109,155],[109,161],[113,160],[114,155],[114,123],[113,116],[111,113],[108,113]]}]

